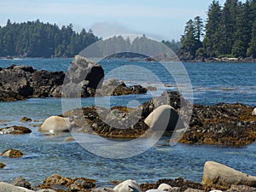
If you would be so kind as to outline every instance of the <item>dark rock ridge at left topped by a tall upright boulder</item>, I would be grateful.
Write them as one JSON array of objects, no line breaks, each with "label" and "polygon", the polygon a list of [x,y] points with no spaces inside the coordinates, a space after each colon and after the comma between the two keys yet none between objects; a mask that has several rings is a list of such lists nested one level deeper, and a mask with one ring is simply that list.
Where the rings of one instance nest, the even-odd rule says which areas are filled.
[{"label": "dark rock ridge at left topped by a tall upright boulder", "polygon": [[103,83],[103,79],[102,66],[79,55],[75,56],[67,73],[38,71],[29,66],[0,67],[0,102],[30,97],[120,96],[147,92],[140,85],[128,87],[116,79]]}]

